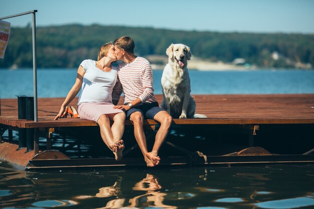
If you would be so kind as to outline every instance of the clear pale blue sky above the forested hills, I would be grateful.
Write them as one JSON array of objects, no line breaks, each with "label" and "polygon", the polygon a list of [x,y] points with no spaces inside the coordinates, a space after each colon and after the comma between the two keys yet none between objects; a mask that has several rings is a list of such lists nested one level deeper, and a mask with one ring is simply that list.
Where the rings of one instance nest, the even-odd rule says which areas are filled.
[{"label": "clear pale blue sky above the forested hills", "polygon": [[[314,0],[1,0],[0,17],[32,10],[36,26],[65,24],[185,31],[314,34]],[[32,15],[6,19],[11,27]]]}]

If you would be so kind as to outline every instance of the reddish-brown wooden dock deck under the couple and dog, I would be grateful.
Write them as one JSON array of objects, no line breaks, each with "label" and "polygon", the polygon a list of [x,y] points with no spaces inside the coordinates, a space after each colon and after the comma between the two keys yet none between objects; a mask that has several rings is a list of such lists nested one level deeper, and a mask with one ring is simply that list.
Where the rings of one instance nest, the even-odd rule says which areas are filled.
[{"label": "reddish-brown wooden dock deck under the couple and dog", "polygon": [[[162,95],[155,95],[161,104]],[[196,113],[207,119],[174,119],[177,125],[202,124],[313,124],[314,94],[193,95]],[[38,122],[19,120],[17,99],[2,99],[0,124],[19,128],[96,126],[93,121],[62,118],[54,121],[64,98],[39,98]],[[70,105],[76,106],[78,98]],[[121,98],[119,104],[122,104]],[[156,125],[145,120],[145,125]],[[132,125],[130,121],[126,125]]]}]

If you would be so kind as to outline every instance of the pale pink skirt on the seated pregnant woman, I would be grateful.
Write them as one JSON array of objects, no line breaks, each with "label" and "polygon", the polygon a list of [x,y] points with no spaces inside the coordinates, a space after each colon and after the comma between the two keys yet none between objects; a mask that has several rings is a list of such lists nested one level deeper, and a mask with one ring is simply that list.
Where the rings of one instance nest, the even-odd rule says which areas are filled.
[{"label": "pale pink skirt on the seated pregnant woman", "polygon": [[97,123],[97,120],[102,114],[112,114],[123,112],[119,109],[113,109],[111,103],[90,103],[84,102],[77,106],[80,118],[84,120],[93,120]]}]

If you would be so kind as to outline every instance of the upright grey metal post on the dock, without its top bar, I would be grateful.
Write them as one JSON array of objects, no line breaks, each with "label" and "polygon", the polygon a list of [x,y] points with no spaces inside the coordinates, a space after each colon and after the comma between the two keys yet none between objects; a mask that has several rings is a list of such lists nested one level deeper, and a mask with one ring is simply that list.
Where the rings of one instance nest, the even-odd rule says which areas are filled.
[{"label": "upright grey metal post on the dock, without its top bar", "polygon": [[36,60],[36,14],[33,12],[33,79],[34,79],[34,121],[38,121],[37,117],[37,60]]}]

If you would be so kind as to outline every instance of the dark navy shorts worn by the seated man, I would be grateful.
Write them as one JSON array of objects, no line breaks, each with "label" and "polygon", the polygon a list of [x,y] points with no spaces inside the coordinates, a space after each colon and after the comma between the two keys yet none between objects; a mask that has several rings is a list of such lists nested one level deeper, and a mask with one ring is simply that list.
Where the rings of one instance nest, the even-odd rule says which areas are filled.
[{"label": "dark navy shorts worn by the seated man", "polygon": [[130,119],[130,116],[133,112],[140,112],[145,118],[153,119],[153,117],[160,111],[164,111],[164,109],[159,107],[158,102],[153,102],[153,103],[143,103],[136,107],[132,107],[131,109],[126,111],[125,114],[126,114],[126,117]]}]

